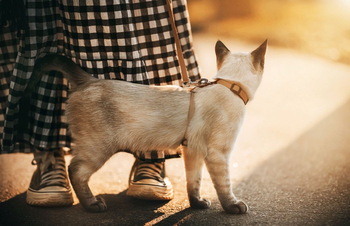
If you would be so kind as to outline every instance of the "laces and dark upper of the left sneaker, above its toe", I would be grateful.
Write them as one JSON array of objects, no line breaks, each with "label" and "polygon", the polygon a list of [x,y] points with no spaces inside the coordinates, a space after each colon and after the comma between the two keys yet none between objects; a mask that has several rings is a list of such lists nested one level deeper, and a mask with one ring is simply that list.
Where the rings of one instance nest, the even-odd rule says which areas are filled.
[{"label": "laces and dark upper of the left sneaker, above its toe", "polygon": [[40,186],[64,186],[65,163],[63,156],[54,156],[53,151],[35,153],[32,165],[38,165],[40,170]]}]

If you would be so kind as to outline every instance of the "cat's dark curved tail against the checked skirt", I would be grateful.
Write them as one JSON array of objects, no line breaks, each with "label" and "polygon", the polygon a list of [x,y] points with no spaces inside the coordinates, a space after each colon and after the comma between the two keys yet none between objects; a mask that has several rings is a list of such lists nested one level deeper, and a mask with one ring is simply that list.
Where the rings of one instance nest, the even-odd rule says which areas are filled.
[{"label": "cat's dark curved tail against the checked skirt", "polygon": [[51,70],[61,72],[70,82],[72,89],[75,89],[85,82],[97,79],[81,69],[68,57],[58,54],[48,54],[35,61],[33,72],[25,89],[25,93],[31,92],[42,75]]}]

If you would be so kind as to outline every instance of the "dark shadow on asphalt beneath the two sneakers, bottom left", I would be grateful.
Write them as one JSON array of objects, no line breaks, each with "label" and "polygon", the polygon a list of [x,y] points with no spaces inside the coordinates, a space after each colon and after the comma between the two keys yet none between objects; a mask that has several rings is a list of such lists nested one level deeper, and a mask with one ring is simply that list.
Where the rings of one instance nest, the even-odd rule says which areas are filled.
[{"label": "dark shadow on asphalt beneath the two sneakers, bottom left", "polygon": [[0,203],[1,225],[96,225],[96,224],[144,224],[163,213],[156,211],[168,201],[149,201],[126,196],[126,190],[118,194],[100,194],[107,204],[107,211],[86,212],[74,204],[60,207],[38,207],[25,204],[25,192]]}]

